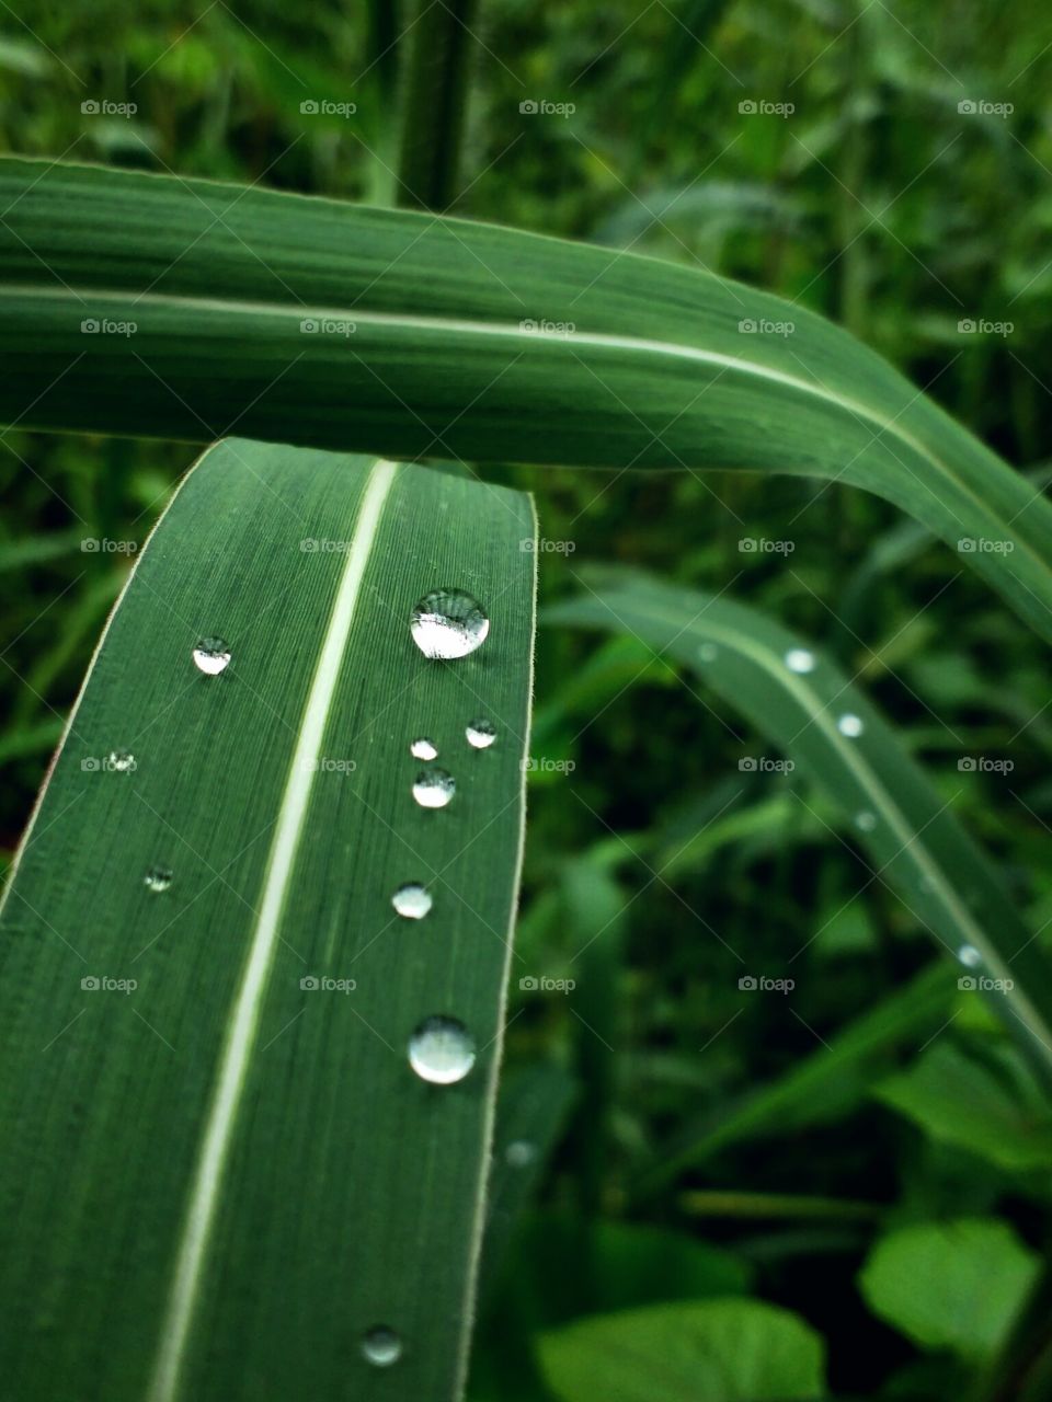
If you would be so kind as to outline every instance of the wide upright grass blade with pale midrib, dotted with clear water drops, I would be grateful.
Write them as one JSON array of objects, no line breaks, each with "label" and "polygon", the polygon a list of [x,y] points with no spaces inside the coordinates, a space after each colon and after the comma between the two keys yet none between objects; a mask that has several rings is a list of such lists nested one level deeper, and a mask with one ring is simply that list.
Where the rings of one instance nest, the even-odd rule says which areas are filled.
[{"label": "wide upright grass blade with pale midrib, dotted with clear water drops", "polygon": [[[516,492],[240,440],[180,489],[3,910],[11,1396],[459,1396],[522,840],[532,533]],[[410,634],[436,586],[491,620],[456,662]],[[229,642],[213,676],[192,660],[206,634]],[[464,735],[478,718],[485,750]],[[456,780],[439,812],[411,792],[421,735]],[[408,882],[432,897],[421,920],[393,908]],[[431,1016],[474,1040],[456,1084],[410,1066]],[[377,1326],[401,1340],[391,1367],[362,1354]]]}]

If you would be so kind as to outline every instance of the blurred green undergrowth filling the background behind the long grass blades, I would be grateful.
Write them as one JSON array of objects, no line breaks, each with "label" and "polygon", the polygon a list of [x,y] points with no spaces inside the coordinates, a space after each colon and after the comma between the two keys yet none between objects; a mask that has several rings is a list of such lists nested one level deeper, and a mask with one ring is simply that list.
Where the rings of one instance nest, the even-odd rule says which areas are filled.
[{"label": "blurred green undergrowth filling the background behind the long grass blades", "polygon": [[[414,15],[3,7],[4,147],[393,202]],[[1020,0],[508,0],[470,29],[454,213],[780,292],[1048,478],[1051,15]],[[18,428],[3,447],[10,858],[133,550],[194,451]],[[624,561],[727,590],[836,655],[1046,939],[1044,648],[954,551],[837,485],[494,475],[536,492],[557,547],[541,603],[579,587],[582,561]],[[745,537],[793,551],[743,552]],[[473,1396],[694,1395],[659,1377],[694,1335],[736,1340],[731,1370],[784,1350],[777,1389],[743,1396],[816,1395],[787,1381],[816,1336],[829,1396],[1052,1396],[1048,1095],[850,829],[798,777],[742,773],[763,742],[697,686],[631,639],[541,629],[516,973],[576,987],[512,990]],[[961,771],[964,756],[1011,770]],[[743,993],[743,967],[795,988]],[[776,1338],[793,1321],[749,1300],[802,1332]]]}]

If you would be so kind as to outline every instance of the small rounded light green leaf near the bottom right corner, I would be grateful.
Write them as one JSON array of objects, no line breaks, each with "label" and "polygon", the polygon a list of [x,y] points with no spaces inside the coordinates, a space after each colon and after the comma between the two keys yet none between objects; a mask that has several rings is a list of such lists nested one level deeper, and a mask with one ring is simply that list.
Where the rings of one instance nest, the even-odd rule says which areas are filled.
[{"label": "small rounded light green leaf near the bottom right corner", "polygon": [[983,1361],[1004,1342],[1038,1269],[1003,1221],[917,1223],[877,1242],[858,1287],[874,1314],[922,1347]]}]

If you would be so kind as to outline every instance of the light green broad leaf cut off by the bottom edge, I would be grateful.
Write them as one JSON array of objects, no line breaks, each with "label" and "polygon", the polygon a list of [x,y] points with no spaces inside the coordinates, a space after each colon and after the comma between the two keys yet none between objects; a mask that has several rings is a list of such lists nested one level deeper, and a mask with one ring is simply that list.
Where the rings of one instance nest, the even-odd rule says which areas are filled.
[{"label": "light green broad leaf cut off by the bottom edge", "polygon": [[759,1300],[703,1300],[596,1315],[541,1336],[562,1402],[795,1402],[823,1395],[823,1346]]}]

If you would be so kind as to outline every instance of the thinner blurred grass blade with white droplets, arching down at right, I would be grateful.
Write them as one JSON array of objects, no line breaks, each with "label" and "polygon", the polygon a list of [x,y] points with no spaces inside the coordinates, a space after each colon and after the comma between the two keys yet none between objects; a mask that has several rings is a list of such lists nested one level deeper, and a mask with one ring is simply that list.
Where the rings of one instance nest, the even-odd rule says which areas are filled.
[{"label": "thinner blurred grass blade with white droplets, arching down at right", "polygon": [[[982,850],[893,729],[826,658],[722,596],[635,572],[584,571],[588,593],[546,621],[628,632],[697,674],[821,785],[886,882],[954,958],[1007,980],[993,1007],[1052,1068],[1052,977]],[[962,972],[962,970],[958,970]]]}]

